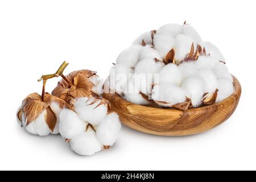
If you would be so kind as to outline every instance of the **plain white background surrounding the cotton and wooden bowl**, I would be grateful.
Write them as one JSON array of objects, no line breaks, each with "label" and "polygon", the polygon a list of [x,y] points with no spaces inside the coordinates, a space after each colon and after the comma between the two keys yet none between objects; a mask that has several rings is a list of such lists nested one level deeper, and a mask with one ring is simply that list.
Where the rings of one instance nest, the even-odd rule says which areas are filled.
[{"label": "plain white background surrounding the cotton and wooden bowl", "polygon": [[[256,169],[255,1],[0,1],[0,169]],[[92,69],[105,78],[118,53],[144,31],[192,24],[216,44],[242,97],[232,117],[207,133],[157,137],[122,127],[117,143],[93,156],[74,154],[60,135],[35,137],[16,123],[36,80],[69,61],[65,73]],[[48,82],[47,90],[57,84]]]}]

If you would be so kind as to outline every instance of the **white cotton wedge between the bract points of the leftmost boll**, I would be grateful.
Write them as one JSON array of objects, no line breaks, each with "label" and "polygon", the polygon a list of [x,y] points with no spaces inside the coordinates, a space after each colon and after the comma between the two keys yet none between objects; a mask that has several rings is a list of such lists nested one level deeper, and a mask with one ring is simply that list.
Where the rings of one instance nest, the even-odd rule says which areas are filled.
[{"label": "white cotton wedge between the bract points of the leftmost boll", "polygon": [[47,123],[46,123],[46,110],[43,111],[42,114],[32,121],[28,126],[26,126],[26,131],[28,133],[39,135],[39,136],[47,136],[51,133]]}]

